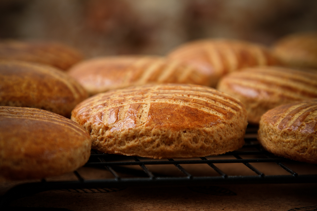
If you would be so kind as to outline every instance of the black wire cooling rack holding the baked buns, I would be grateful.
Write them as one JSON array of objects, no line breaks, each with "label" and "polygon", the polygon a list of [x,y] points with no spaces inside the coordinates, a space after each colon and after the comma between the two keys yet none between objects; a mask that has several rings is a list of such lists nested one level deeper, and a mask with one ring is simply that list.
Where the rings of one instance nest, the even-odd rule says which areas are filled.
[{"label": "black wire cooling rack holding the baked buns", "polygon": [[74,180],[23,183],[1,197],[0,207],[14,199],[52,189],[96,193],[126,187],[317,183],[317,165],[263,150],[256,133],[257,127],[248,127],[245,145],[237,151],[192,159],[157,160],[92,151],[84,168],[107,171],[110,178],[87,179],[80,171],[74,171]]}]

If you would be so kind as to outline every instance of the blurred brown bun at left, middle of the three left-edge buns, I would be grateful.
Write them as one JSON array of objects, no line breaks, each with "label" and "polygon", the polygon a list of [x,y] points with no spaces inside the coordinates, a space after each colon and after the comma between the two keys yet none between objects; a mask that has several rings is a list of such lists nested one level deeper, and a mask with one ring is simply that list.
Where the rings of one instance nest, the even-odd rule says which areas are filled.
[{"label": "blurred brown bun at left, middle of the three left-edge buns", "polygon": [[88,97],[78,82],[51,66],[0,61],[0,106],[31,107],[70,117]]}]

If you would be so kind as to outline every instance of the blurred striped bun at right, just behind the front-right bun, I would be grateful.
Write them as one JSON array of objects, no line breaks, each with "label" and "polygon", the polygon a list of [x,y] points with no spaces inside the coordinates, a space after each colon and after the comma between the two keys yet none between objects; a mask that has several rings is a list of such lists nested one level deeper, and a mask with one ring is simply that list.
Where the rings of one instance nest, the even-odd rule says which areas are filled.
[{"label": "blurred striped bun at right, just behind the front-right bun", "polygon": [[238,98],[248,111],[248,122],[276,106],[317,97],[317,74],[282,67],[254,67],[223,77],[217,89]]}]

